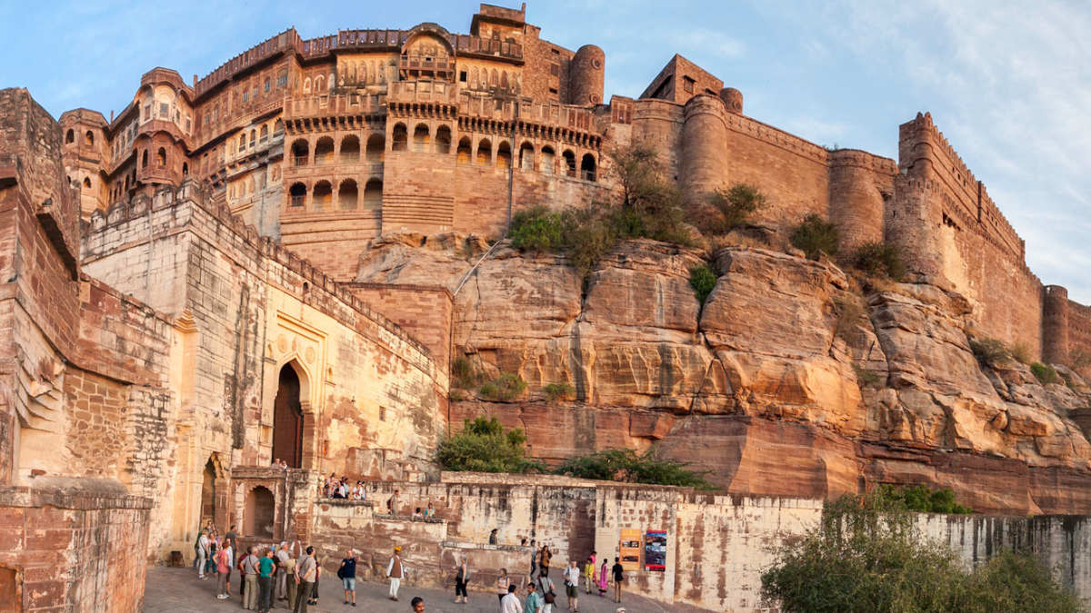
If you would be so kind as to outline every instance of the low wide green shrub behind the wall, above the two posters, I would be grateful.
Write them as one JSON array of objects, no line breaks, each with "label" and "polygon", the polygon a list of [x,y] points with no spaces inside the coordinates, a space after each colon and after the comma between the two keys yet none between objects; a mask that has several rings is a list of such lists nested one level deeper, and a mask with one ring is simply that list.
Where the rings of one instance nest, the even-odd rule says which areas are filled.
[{"label": "low wide green shrub behind the wall, above the two posters", "polygon": [[580,479],[712,489],[705,479],[708,472],[690,470],[688,466],[660,459],[655,448],[640,455],[633,449],[603,449],[568,458],[554,472]]}]

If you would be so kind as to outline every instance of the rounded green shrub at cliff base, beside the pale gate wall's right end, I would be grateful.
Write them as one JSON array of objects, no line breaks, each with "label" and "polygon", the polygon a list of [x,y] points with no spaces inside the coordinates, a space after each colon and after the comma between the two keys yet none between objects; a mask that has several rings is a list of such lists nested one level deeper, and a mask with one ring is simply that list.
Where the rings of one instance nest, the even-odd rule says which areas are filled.
[{"label": "rounded green shrub at cliff base, beside the pale gate wall's right end", "polygon": [[527,437],[523,430],[504,432],[496,418],[465,420],[463,431],[440,443],[436,461],[444,470],[480,472],[528,472],[540,470],[525,457]]}]

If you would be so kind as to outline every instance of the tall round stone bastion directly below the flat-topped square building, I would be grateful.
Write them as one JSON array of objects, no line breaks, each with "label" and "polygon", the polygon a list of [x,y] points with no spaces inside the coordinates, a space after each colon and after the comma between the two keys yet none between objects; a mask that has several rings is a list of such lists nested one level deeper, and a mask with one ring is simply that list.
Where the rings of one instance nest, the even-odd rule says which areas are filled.
[{"label": "tall round stone bastion directly below the flat-topped square building", "polygon": [[687,199],[700,197],[728,180],[728,125],[723,101],[702,94],[690,98],[682,120],[679,182]]}]

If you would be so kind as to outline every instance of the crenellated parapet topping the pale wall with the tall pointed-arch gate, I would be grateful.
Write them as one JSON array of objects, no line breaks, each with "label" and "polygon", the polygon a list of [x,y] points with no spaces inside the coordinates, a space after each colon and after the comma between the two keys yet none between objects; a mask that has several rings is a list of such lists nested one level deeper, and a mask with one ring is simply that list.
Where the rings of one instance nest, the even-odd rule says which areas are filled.
[{"label": "crenellated parapet topping the pale wall with the tall pointed-arch gate", "polygon": [[[93,240],[96,233],[101,233],[132,221],[146,223],[149,213],[183,205],[184,203],[192,203],[200,206],[215,221],[239,237],[256,253],[299,275],[305,283],[304,293],[305,291],[319,290],[336,298],[358,314],[363,315],[425,357],[431,358],[431,351],[428,347],[410,336],[401,326],[361,301],[352,292],[350,286],[335,280],[303,257],[285,249],[271,238],[259,235],[253,226],[245,224],[240,217],[231,214],[226,205],[211,199],[206,190],[202,189],[192,179],[183,181],[177,189],[164,187],[157,190],[152,197],[140,194],[131,200],[116,203],[105,212],[95,212],[86,224],[85,240]],[[329,314],[335,315],[335,313]]]}]

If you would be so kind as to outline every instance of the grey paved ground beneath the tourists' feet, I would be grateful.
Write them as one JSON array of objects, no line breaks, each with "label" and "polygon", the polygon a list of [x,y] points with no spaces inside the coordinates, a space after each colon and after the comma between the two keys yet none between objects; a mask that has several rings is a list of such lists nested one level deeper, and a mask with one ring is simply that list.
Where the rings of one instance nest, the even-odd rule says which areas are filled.
[{"label": "grey paved ground beneath the tourists' feet", "polygon": [[[231,575],[235,579],[236,574]],[[208,578],[199,580],[189,568],[168,568],[155,566],[147,570],[147,588],[144,592],[144,613],[176,613],[176,612],[231,612],[242,611],[237,591],[238,586],[232,586],[230,600],[216,600],[216,580]],[[350,611],[365,611],[369,613],[409,613],[409,601],[412,597],[419,596],[424,599],[427,613],[497,613],[500,606],[495,594],[488,592],[470,591],[468,604],[455,604],[454,589],[420,589],[412,586],[403,586],[398,593],[398,602],[387,600],[387,586],[374,581],[360,581],[356,584],[357,606],[352,608],[343,604],[344,592],[340,589],[340,581],[331,575],[327,581],[323,578],[319,581],[321,592],[320,604],[308,608],[313,613],[348,613]],[[640,598],[636,596],[622,596],[622,603],[627,613],[666,613],[685,612],[698,613],[703,610],[681,604],[666,604]],[[609,598],[599,598],[580,593],[580,613],[613,613],[619,605]],[[279,601],[274,611],[287,611],[285,601]],[[554,613],[565,613],[565,598],[563,594],[558,599]]]}]

